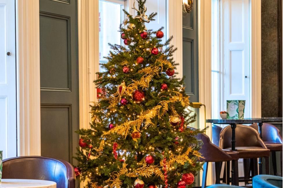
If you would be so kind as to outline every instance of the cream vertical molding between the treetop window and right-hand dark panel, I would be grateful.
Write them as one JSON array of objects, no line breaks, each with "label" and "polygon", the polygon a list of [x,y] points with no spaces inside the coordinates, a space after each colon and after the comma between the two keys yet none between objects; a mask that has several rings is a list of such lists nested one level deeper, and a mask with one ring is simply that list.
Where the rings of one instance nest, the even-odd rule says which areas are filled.
[{"label": "cream vertical molding between the treetop window and right-hand dark panel", "polygon": [[173,1],[168,0],[168,36],[173,36],[174,38],[171,41],[171,45],[177,47],[177,51],[174,53],[174,60],[179,63],[176,67],[176,72],[178,78],[183,77],[183,32],[182,32],[182,1]]}]

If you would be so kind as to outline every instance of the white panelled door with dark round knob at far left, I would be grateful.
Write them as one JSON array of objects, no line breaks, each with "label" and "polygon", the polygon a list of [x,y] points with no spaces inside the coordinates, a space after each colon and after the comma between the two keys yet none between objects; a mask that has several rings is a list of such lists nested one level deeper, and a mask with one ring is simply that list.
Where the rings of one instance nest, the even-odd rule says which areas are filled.
[{"label": "white panelled door with dark round knob at far left", "polygon": [[3,158],[17,155],[15,52],[15,1],[0,0],[0,150]]}]

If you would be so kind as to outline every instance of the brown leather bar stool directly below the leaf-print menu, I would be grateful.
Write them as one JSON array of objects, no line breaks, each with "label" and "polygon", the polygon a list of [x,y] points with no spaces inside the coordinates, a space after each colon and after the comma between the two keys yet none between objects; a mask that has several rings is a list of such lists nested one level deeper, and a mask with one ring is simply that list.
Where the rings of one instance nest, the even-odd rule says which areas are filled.
[{"label": "brown leather bar stool directly below the leaf-print menu", "polygon": [[[270,155],[270,150],[266,148],[258,132],[250,126],[237,125],[235,133],[236,151],[239,152],[239,158],[251,159],[252,176],[255,176],[258,174],[257,158],[268,158]],[[222,129],[219,142],[220,148],[231,150],[231,135],[232,129],[230,126]],[[265,160],[265,163],[266,170],[268,170],[268,160]],[[245,183],[248,183],[249,172],[249,169],[244,169]]]}]

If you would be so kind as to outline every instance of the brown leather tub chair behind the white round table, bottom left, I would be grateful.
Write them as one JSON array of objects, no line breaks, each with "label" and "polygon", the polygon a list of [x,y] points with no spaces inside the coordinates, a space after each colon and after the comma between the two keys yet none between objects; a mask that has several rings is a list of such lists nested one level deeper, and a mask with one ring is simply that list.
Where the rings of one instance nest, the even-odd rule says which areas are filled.
[{"label": "brown leather tub chair behind the white round table, bottom left", "polygon": [[63,160],[42,156],[23,156],[3,160],[3,179],[54,181],[58,188],[74,188],[73,166]]}]

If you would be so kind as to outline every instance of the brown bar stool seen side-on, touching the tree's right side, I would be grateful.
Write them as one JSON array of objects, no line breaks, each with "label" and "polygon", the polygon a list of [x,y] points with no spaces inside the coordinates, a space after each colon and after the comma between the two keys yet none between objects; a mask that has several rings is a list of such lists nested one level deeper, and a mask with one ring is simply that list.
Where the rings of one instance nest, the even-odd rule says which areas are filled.
[{"label": "brown bar stool seen side-on, touching the tree's right side", "polygon": [[[200,159],[200,161],[205,162],[203,165],[203,176],[202,176],[202,188],[204,188],[206,186],[208,162],[216,163],[216,162],[228,161],[230,163],[231,160],[238,160],[238,152],[228,150],[228,152],[231,155],[227,154],[225,151],[214,145],[206,134],[200,133],[196,136],[196,138],[203,141],[202,148],[199,150],[199,152],[204,157]],[[227,170],[227,173],[230,173],[230,166],[229,170]],[[230,174],[228,177],[230,178]]]}]

